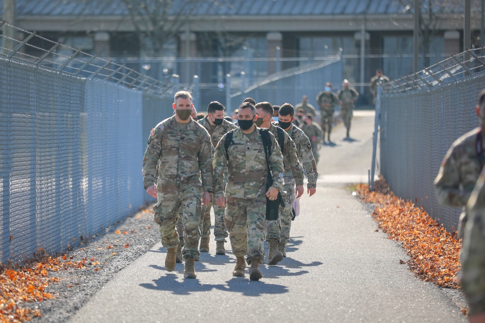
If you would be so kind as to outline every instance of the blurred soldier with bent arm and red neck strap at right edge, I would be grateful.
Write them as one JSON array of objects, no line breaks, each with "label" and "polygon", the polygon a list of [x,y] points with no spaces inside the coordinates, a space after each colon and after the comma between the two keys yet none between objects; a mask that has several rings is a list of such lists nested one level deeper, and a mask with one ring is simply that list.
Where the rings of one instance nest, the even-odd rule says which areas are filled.
[{"label": "blurred soldier with bent arm and red neck strap at right edge", "polygon": [[[441,162],[435,179],[436,196],[441,205],[463,207],[467,205],[485,158],[485,90],[478,96],[475,107],[481,126],[456,139]],[[463,237],[467,215],[462,212],[458,234]]]}]

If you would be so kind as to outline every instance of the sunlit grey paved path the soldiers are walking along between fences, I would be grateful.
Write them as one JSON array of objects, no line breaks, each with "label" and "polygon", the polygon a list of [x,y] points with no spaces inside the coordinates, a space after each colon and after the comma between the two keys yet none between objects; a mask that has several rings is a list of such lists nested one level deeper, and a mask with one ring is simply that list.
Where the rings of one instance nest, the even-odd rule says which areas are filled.
[{"label": "sunlit grey paved path the soldiers are walking along between fences", "polygon": [[[334,130],[322,147],[314,197],[304,196],[291,228],[288,257],[262,266],[259,282],[232,277],[235,257],[210,253],[195,263],[164,269],[157,244],[113,277],[70,322],[467,322],[433,284],[414,277],[408,258],[388,240],[348,183],[367,181],[373,116],[356,113],[351,136]],[[229,246],[226,244],[226,246]],[[267,245],[266,245],[267,248]]]}]

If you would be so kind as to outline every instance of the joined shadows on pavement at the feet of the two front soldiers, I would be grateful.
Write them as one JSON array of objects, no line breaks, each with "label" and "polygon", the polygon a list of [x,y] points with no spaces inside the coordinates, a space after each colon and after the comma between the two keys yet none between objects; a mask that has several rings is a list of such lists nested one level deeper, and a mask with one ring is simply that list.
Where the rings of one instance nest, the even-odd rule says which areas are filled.
[{"label": "joined shadows on pavement at the feet of the two front soldiers", "polygon": [[264,281],[249,281],[248,274],[246,274],[246,277],[234,277],[226,281],[225,284],[217,285],[201,284],[199,279],[178,280],[178,275],[167,274],[152,280],[152,283],[142,283],[140,286],[149,290],[167,291],[177,295],[190,295],[193,292],[209,292],[211,290],[238,292],[244,296],[261,296],[262,294],[282,294],[289,292],[287,286],[268,284]]}]

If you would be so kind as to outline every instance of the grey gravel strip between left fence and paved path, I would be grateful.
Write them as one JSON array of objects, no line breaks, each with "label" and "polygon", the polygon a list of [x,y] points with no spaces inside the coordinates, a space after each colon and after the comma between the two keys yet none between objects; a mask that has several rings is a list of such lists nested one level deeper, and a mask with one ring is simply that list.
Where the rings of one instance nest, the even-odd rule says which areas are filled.
[{"label": "grey gravel strip between left fence and paved path", "polygon": [[159,242],[160,233],[151,209],[150,204],[66,252],[66,259],[86,259],[85,268],[50,272],[50,277],[62,278],[59,283],[50,283],[46,289],[56,297],[27,304],[29,308],[39,309],[42,314],[31,322],[66,322],[117,272]]}]

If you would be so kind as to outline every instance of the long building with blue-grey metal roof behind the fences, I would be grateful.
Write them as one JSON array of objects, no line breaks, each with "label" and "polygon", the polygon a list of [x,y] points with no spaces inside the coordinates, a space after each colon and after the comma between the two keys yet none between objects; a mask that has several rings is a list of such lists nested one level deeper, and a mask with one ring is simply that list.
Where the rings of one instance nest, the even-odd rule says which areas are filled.
[{"label": "long building with blue-grey metal roof behind the fences", "polygon": [[[15,0],[15,20],[4,19],[152,77],[176,74],[190,86],[197,75],[202,104],[224,101],[227,74],[231,91],[244,91],[329,57],[340,58],[341,75],[314,82],[323,87],[330,80],[338,89],[347,78],[364,92],[360,105],[372,102],[367,83],[376,68],[391,79],[412,73],[412,0],[184,0],[167,6],[170,2]],[[421,3],[424,67],[463,51],[463,1]],[[479,15],[478,0],[472,5]],[[480,19],[472,19],[475,36],[479,25]],[[473,37],[473,44],[479,42]]]}]

